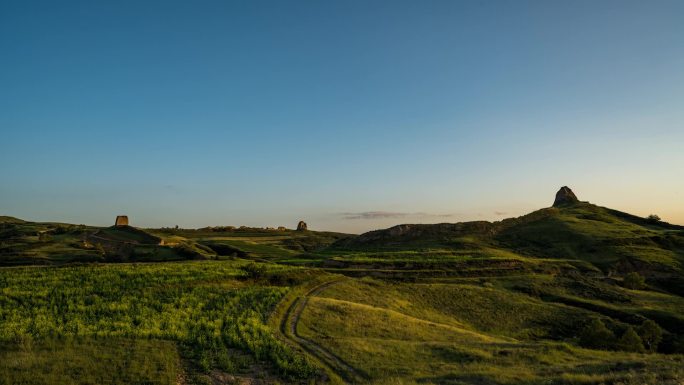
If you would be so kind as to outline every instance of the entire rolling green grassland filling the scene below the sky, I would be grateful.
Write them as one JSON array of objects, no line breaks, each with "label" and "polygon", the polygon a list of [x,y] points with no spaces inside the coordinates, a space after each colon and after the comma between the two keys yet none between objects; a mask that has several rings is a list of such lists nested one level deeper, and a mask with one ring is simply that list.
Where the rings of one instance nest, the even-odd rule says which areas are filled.
[{"label": "entire rolling green grassland filling the scene below the sky", "polygon": [[[655,217],[566,199],[360,236],[1,222],[3,264],[67,264],[0,269],[12,382],[684,381],[684,228]],[[106,263],[131,261],[164,263]],[[102,362],[128,377],[90,380]]]}]

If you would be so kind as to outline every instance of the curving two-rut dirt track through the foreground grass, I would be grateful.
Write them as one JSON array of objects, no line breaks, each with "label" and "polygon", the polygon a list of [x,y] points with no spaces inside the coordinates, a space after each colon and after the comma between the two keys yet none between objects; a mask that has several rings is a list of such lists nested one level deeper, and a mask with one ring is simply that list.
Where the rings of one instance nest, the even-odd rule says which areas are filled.
[{"label": "curving two-rut dirt track through the foreground grass", "polygon": [[287,336],[294,343],[299,345],[302,349],[306,350],[309,354],[316,357],[324,365],[326,365],[330,370],[336,373],[340,378],[342,378],[347,383],[358,383],[362,382],[364,377],[351,365],[344,362],[341,358],[337,357],[324,347],[316,344],[315,342],[300,336],[297,333],[297,323],[299,323],[299,318],[309,301],[309,297],[312,297],[326,288],[339,283],[341,280],[324,282],[318,286],[311,288],[301,297],[298,297],[287,310],[285,317],[280,324],[280,331],[283,335]]}]

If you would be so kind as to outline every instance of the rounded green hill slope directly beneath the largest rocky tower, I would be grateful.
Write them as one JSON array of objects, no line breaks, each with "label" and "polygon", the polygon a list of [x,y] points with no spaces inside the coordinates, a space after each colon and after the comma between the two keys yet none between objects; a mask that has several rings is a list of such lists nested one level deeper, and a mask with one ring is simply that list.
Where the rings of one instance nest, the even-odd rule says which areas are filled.
[{"label": "rounded green hill slope directly beneath the largest rocky tower", "polygon": [[526,255],[583,259],[603,269],[681,270],[684,263],[684,228],[587,203],[503,221],[493,240]]}]

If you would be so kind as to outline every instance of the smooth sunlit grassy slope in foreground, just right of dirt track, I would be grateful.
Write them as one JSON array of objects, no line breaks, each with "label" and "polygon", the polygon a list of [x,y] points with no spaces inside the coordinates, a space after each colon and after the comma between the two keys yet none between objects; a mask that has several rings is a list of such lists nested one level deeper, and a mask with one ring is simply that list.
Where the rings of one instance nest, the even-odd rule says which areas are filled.
[{"label": "smooth sunlit grassy slope in foreground, just right of dirt track", "polygon": [[[682,355],[582,348],[577,336],[589,320],[602,318],[618,334],[628,325],[521,294],[510,289],[511,280],[527,281],[350,279],[309,300],[299,332],[378,384],[678,384],[684,379]],[[645,299],[629,296],[637,297]],[[668,302],[676,307],[681,299]]]}]

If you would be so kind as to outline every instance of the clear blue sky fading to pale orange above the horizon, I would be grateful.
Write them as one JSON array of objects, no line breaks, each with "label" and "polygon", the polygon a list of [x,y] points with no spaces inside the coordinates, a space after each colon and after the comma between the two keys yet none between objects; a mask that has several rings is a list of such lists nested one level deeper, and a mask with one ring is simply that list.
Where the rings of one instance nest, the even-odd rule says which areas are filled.
[{"label": "clear blue sky fading to pale orange above the horizon", "polygon": [[0,2],[0,214],[684,224],[684,1]]}]

